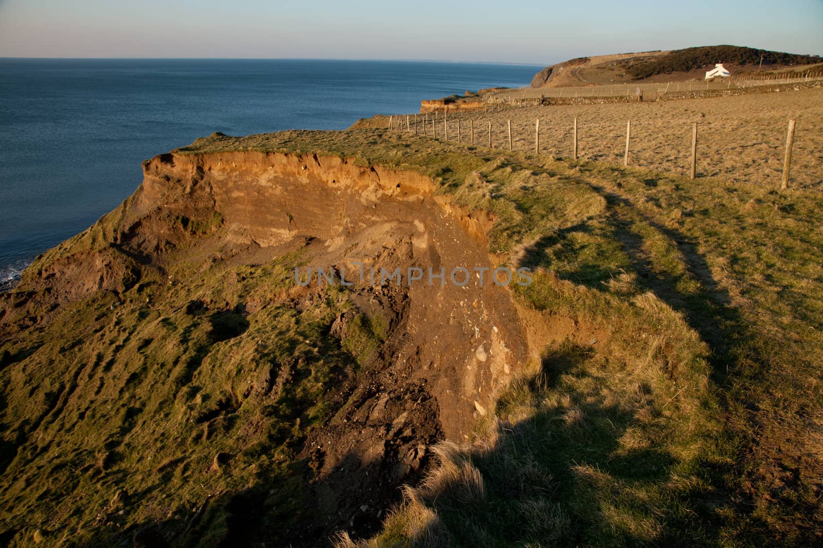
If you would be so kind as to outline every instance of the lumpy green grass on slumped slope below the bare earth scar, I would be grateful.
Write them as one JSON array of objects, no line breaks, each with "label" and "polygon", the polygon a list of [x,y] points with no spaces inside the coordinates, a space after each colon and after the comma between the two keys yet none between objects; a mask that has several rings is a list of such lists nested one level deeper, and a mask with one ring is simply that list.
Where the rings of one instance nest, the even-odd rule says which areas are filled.
[{"label": "lumpy green grass on slumped slope below the bare earth scar", "polygon": [[[81,546],[158,518],[183,527],[207,496],[263,484],[277,486],[267,503],[275,514],[295,519],[302,482],[291,463],[333,412],[326,394],[361,358],[328,334],[351,310],[346,294],[328,288],[302,312],[284,304],[293,260],[182,266],[173,279],[193,285],[144,277],[119,298],[95,293],[7,342],[13,355],[35,349],[25,376],[6,377],[4,420],[24,431],[23,417],[35,417],[38,439],[7,463],[4,521],[37,523],[52,541]],[[248,302],[261,310],[241,313]],[[203,473],[221,453],[231,472]],[[121,490],[124,514],[110,504]],[[210,532],[226,519],[220,508],[190,534],[203,546],[220,536]]]}]

